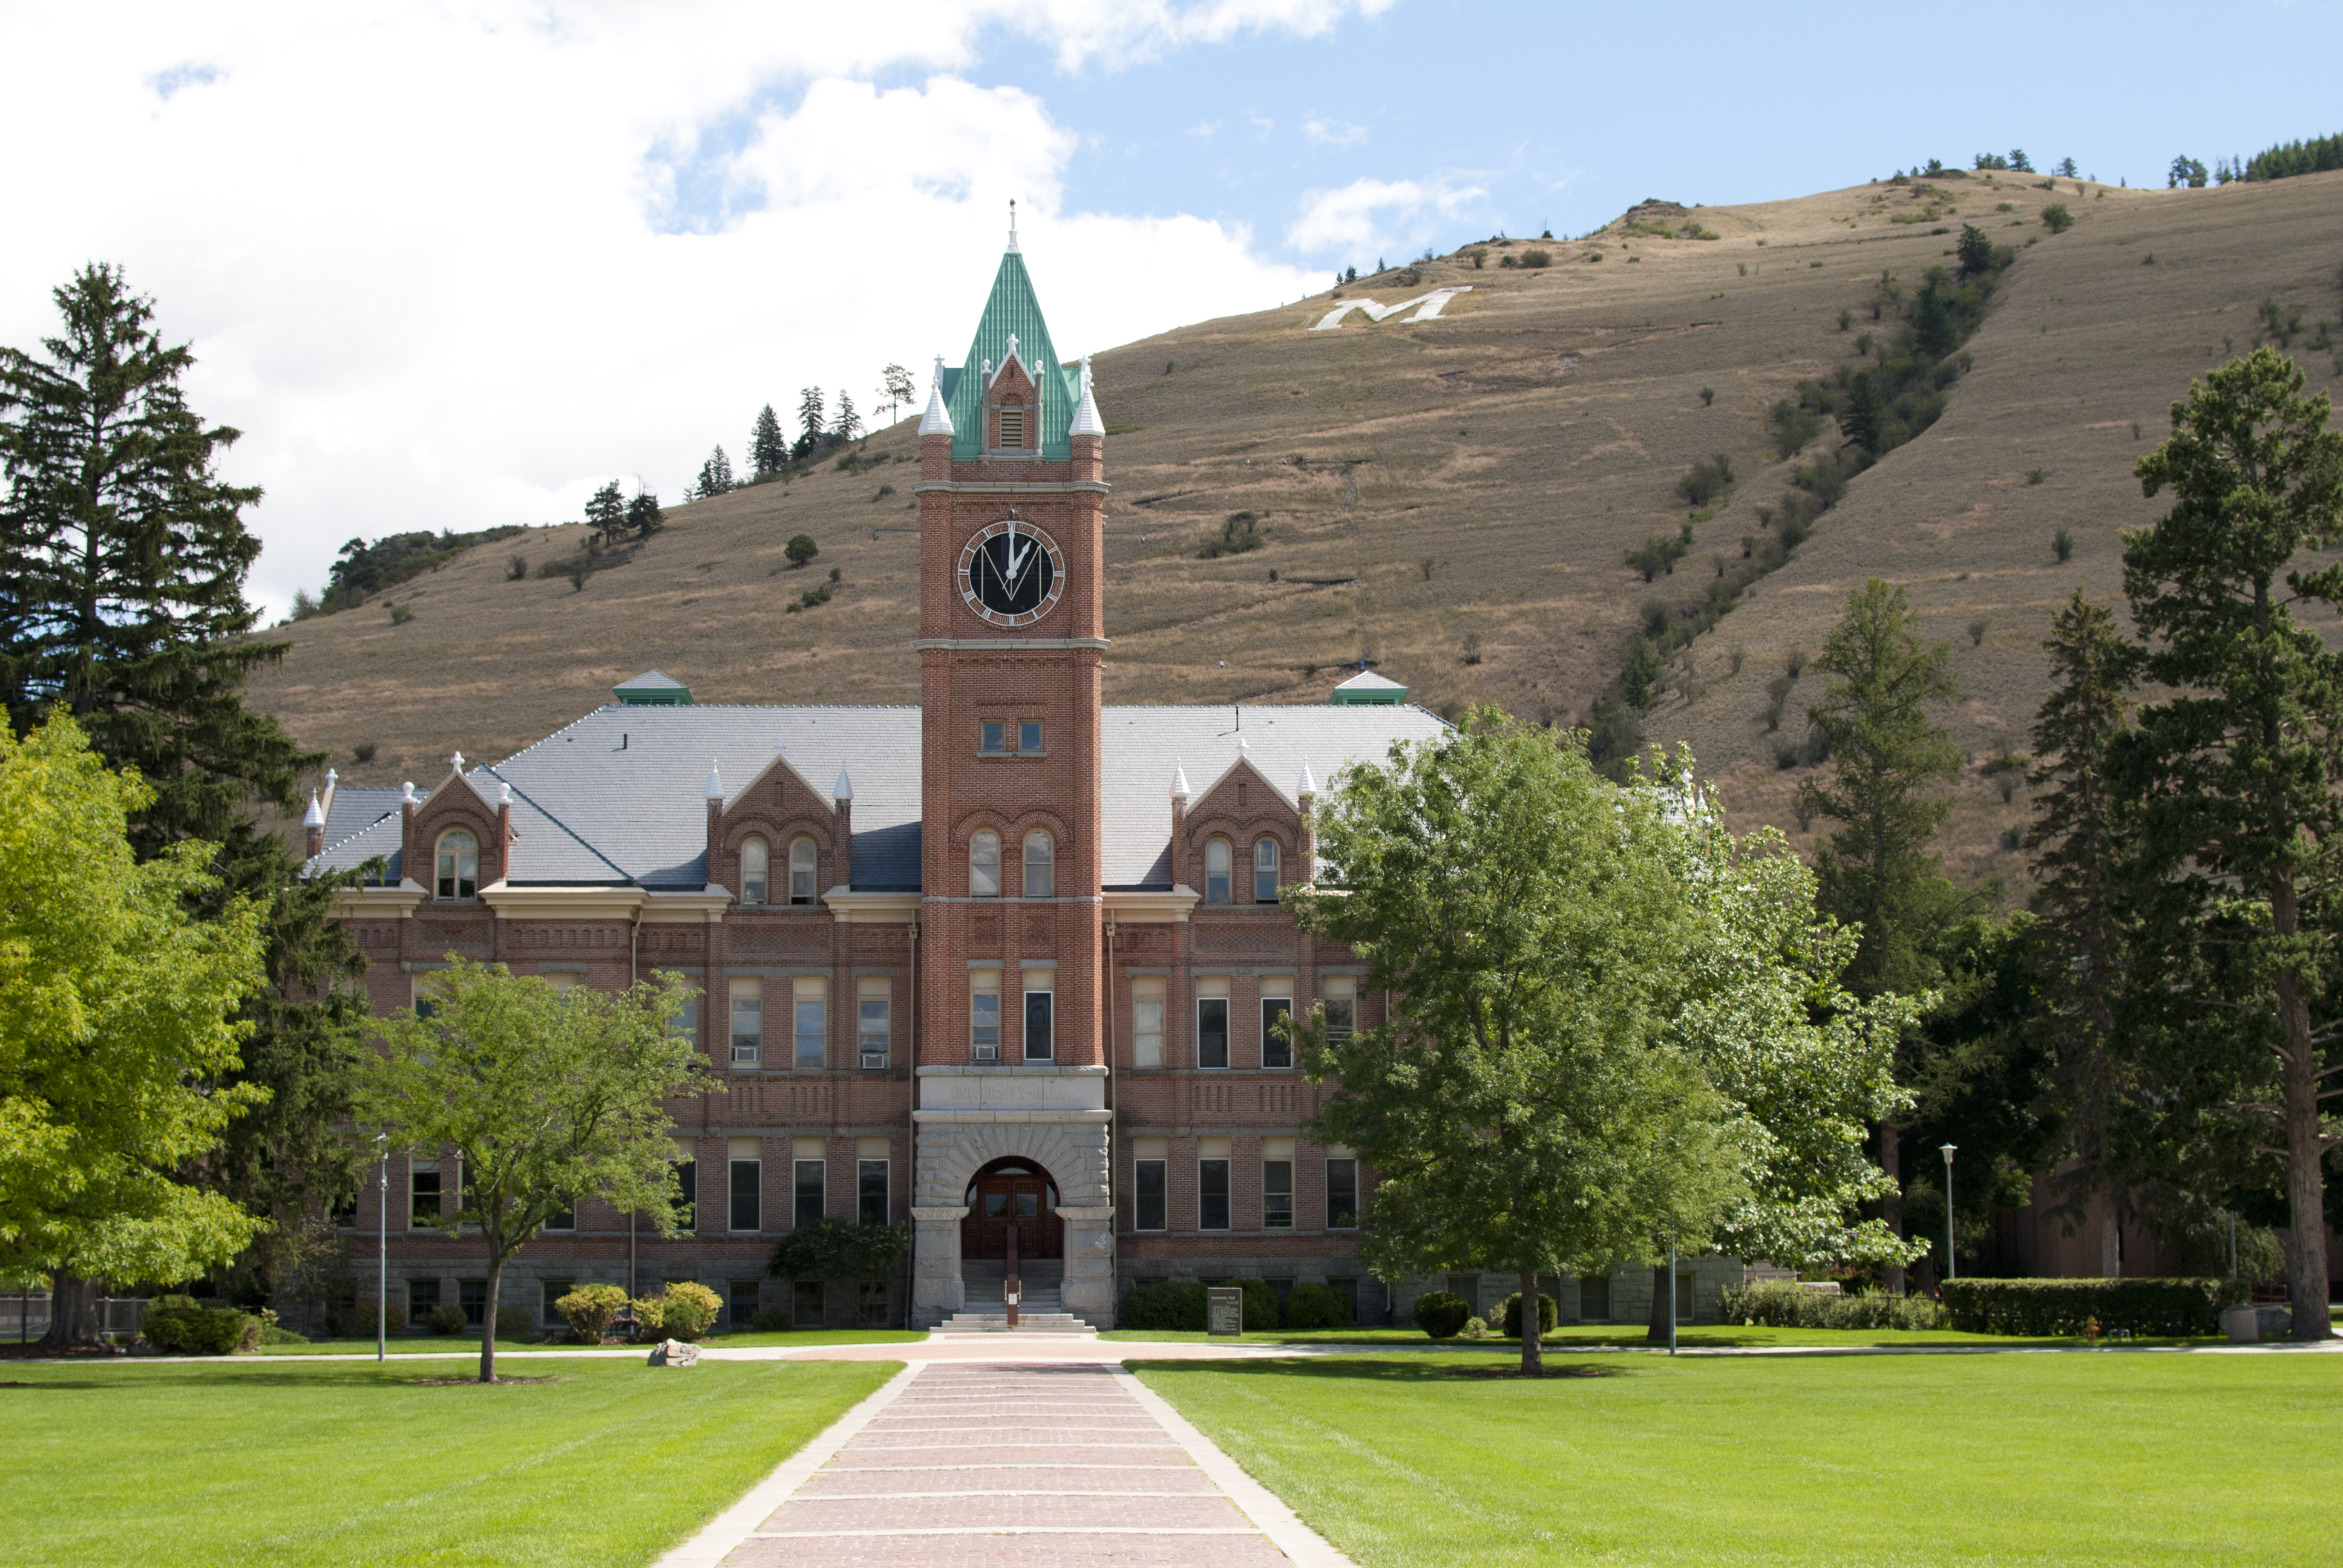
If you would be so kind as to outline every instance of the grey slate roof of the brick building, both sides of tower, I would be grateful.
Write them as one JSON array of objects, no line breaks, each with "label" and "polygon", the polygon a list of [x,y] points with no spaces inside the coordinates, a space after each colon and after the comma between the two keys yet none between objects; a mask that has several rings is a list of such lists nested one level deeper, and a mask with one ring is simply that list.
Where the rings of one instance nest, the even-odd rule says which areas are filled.
[{"label": "grey slate roof of the brick building, both sides of tower", "polygon": [[[1380,762],[1394,741],[1443,729],[1422,708],[1106,708],[1101,713],[1104,881],[1172,886],[1172,773],[1195,799],[1239,755],[1293,799],[1303,766],[1319,788],[1352,762]],[[1239,752],[1237,738],[1244,738]],[[644,886],[708,881],[710,762],[726,799],[778,755],[825,795],[839,771],[855,788],[855,888],[918,888],[918,708],[623,708],[609,703],[466,778],[490,802],[513,788],[515,886]],[[419,790],[417,790],[419,795]],[[382,816],[370,813],[382,811]],[[398,855],[398,790],[342,790],[312,870]]]}]

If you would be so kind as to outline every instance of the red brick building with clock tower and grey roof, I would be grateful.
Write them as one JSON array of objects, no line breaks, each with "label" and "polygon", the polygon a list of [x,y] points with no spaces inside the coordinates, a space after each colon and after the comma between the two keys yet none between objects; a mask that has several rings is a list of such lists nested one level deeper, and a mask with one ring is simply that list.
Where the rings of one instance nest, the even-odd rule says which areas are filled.
[{"label": "red brick building with clock tower and grey roof", "polygon": [[[1106,427],[1015,237],[918,431],[918,708],[698,705],[654,670],[515,757],[312,813],[316,867],[389,867],[344,902],[377,1010],[448,954],[701,987],[689,1024],[726,1092],[677,1106],[694,1230],[581,1205],[504,1301],[551,1320],[572,1282],[701,1280],[736,1322],[935,1324],[998,1301],[1015,1230],[1029,1308],[1061,1275],[1094,1324],[1139,1280],[1228,1275],[1331,1282],[1380,1320],[1354,1233],[1371,1177],[1307,1141],[1321,1090],[1272,1031],[1319,1001],[1368,1024],[1380,998],[1279,898],[1317,872],[1319,783],[1441,722],[1101,703]],[[476,1305],[478,1247],[424,1228],[457,1181],[394,1163],[410,1310]],[[766,1280],[820,1214],[909,1221],[911,1268]]]}]

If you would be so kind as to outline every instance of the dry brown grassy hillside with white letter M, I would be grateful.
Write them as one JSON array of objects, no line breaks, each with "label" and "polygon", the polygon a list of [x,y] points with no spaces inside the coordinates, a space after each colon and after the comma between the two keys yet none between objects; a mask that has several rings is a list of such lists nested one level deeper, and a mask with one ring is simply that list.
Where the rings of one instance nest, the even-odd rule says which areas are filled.
[{"label": "dry brown grassy hillside with white letter M", "polygon": [[[2050,202],[2071,230],[2041,223]],[[1799,771],[1776,766],[1776,743],[1804,734],[1821,689],[1806,675],[1769,731],[1764,687],[1792,649],[1821,647],[1851,586],[1907,581],[1928,628],[1956,645],[1963,701],[1947,722],[1985,764],[2024,745],[2050,607],[2076,586],[2116,593],[2118,530],[2156,516],[2130,466],[2188,377],[2266,330],[2263,300],[2301,307],[2294,354],[2315,384],[2338,373],[2334,349],[2308,345],[2343,316],[2343,173],[2177,192],[2045,192],[2003,173],[1654,213],[1343,291],[1389,305],[1471,284],[1436,321],[1352,314],[1312,333],[1331,305],[1319,295],[1101,354],[1115,429],[1111,701],[1321,701],[1368,656],[1434,708],[1500,701],[1584,720],[1649,600],[1696,602],[1720,570],[1741,570],[1746,537],[1762,555],[1757,509],[1795,466],[1776,457],[1767,408],[1893,323],[1870,321],[1881,272],[1917,286],[1977,223],[2022,248],[1945,415],[1856,478],[1673,661],[1645,715],[1649,738],[1694,743],[1736,818],[1795,832]],[[1530,248],[1551,265],[1500,265]],[[970,316],[989,265],[965,258]],[[1036,265],[1047,302],[1047,258]],[[1835,441],[1825,431],[1809,457]],[[1678,478],[1717,452],[1736,488],[1673,574],[1645,586],[1624,553],[1680,530]],[[583,588],[506,579],[513,553],[567,555],[581,527],[478,548],[391,591],[410,607],[403,623],[370,602],[276,633],[293,649],[258,696],[363,783],[424,778],[457,748],[504,755],[651,666],[701,701],[916,701],[911,455],[907,422],[865,445],[879,466],[670,509],[668,532]],[[1235,513],[1254,513],[1265,544],[1200,558]],[[2067,563],[2052,553],[2062,527]],[[783,558],[797,532],[822,548],[806,570]],[[834,598],[787,612],[829,567]],[[375,759],[354,766],[363,743]],[[1961,870],[2017,872],[2001,832],[2022,802],[2003,804],[1975,766],[1963,776],[1949,832]]]}]

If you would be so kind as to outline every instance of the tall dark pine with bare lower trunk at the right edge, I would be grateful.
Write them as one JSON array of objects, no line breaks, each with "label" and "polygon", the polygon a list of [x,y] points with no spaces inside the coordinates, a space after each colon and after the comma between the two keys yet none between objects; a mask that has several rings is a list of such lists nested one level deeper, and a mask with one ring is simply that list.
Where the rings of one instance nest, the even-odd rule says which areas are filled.
[{"label": "tall dark pine with bare lower trunk at the right edge", "polygon": [[[2149,872],[2191,900],[2188,923],[2219,945],[2214,994],[2259,1045],[2259,1095],[2238,1111],[2284,1153],[2296,1301],[2327,1298],[2322,1095],[2336,1062],[2336,841],[2343,834],[2343,656],[2296,605],[2334,614],[2343,567],[2306,551],[2343,541],[2343,434],[2327,394],[2254,349],[2191,384],[2172,436],[2139,459],[2142,492],[2172,511],[2125,534],[2123,591],[2139,626],[2144,703],[2123,752],[2139,797]],[[2329,1338],[2322,1313],[2296,1338]]]}]

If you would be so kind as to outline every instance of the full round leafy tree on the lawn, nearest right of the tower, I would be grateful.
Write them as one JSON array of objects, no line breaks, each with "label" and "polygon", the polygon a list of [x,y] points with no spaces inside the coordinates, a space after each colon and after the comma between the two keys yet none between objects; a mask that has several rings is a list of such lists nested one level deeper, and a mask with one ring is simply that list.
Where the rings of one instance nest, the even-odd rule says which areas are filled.
[{"label": "full round leafy tree on the lawn, nearest right of the tower", "polygon": [[[1310,1137],[1378,1177],[1368,1266],[1537,1277],[1706,1242],[1746,1195],[1748,1134],[1673,1041],[1699,921],[1661,795],[1483,708],[1347,769],[1319,846],[1340,888],[1298,888],[1298,919],[1394,998],[1347,1038],[1296,1022],[1312,1080],[1338,1083]],[[1530,1315],[1521,1364],[1542,1366]]]}]

